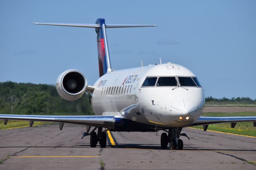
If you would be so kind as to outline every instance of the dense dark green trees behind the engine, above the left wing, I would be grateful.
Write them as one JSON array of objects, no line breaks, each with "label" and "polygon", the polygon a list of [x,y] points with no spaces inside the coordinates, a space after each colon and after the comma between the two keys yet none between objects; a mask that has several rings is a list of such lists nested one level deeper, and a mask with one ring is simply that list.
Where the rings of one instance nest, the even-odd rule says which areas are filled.
[{"label": "dense dark green trees behind the engine, above the left wing", "polygon": [[0,82],[0,114],[94,115],[89,96],[66,101],[53,85]]}]

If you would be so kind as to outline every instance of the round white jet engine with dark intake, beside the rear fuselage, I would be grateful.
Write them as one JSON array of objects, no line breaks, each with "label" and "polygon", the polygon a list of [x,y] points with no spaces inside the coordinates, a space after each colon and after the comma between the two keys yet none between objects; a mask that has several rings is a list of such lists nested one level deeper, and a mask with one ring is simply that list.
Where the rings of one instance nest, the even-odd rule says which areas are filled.
[{"label": "round white jet engine with dark intake, beside the rear fuselage", "polygon": [[56,81],[56,89],[60,97],[65,100],[77,100],[85,93],[87,80],[79,70],[66,70]]}]

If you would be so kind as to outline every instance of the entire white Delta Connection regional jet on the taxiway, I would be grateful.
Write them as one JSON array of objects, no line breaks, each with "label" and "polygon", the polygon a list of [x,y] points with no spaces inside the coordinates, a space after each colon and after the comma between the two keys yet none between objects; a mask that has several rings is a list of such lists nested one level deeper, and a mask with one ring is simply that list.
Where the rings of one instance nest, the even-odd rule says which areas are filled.
[{"label": "entire white Delta Connection regional jet on the taxiway", "polygon": [[[90,146],[106,147],[106,131],[165,131],[161,135],[161,147],[183,149],[180,136],[183,127],[209,124],[252,121],[256,117],[200,117],[204,108],[204,91],[198,78],[188,68],[174,63],[155,64],[112,70],[106,35],[107,28],[154,27],[156,25],[114,25],[104,19],[95,24],[34,23],[70,27],[95,28],[98,44],[100,78],[93,86],[87,84],[79,70],[66,70],[56,82],[58,94],[65,100],[77,100],[85,92],[90,93],[90,103],[95,116],[43,116],[43,115],[0,115],[4,124],[8,120],[50,121],[74,123],[86,126],[82,138],[90,136]],[[93,128],[91,128],[93,127]],[[96,133],[98,129],[98,133]],[[188,138],[189,139],[189,138]]]}]

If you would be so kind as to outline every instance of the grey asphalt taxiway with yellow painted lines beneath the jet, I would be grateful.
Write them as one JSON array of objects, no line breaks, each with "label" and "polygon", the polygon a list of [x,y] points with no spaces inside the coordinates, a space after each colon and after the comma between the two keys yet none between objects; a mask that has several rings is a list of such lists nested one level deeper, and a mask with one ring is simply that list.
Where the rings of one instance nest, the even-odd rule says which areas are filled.
[{"label": "grey asphalt taxiway with yellow painted lines beneath the jet", "polygon": [[[184,128],[184,150],[162,150],[156,133],[108,133],[107,147],[90,148],[84,126],[41,125],[0,131],[0,170],[256,169],[256,138]],[[111,135],[111,136],[110,136]]]}]

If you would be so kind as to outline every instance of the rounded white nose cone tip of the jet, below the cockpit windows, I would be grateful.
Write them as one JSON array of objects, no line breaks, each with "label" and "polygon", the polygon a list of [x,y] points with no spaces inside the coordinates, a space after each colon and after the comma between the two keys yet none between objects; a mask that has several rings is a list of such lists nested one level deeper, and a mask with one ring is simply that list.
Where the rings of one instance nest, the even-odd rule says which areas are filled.
[{"label": "rounded white nose cone tip of the jet, below the cockpit windows", "polygon": [[189,100],[177,100],[171,105],[173,117],[189,115],[194,109],[196,109],[196,106]]}]

